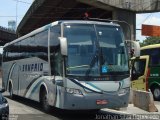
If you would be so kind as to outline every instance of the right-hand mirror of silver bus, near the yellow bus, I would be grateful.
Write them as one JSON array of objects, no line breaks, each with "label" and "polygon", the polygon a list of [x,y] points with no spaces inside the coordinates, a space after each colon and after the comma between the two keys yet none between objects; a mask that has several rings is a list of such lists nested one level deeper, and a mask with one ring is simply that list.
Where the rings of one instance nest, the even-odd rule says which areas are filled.
[{"label": "right-hand mirror of silver bus, near the yellow bus", "polygon": [[137,41],[126,40],[127,46],[130,46],[130,56],[131,57],[140,57],[140,44]]}]

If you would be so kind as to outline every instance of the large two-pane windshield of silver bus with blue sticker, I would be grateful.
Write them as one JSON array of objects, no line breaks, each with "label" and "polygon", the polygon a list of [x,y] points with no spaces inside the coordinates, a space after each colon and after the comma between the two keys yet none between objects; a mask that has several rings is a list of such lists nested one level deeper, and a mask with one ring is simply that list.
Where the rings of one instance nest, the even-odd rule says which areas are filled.
[{"label": "large two-pane windshield of silver bus with blue sticker", "polygon": [[93,24],[65,24],[68,41],[68,75],[110,75],[128,73],[127,54],[120,27]]}]

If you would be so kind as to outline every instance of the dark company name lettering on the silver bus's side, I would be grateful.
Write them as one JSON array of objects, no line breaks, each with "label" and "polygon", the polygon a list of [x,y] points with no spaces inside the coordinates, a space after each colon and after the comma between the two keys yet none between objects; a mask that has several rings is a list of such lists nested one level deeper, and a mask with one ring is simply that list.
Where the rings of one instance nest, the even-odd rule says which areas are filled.
[{"label": "dark company name lettering on the silver bus's side", "polygon": [[43,63],[22,65],[22,72],[43,71]]}]

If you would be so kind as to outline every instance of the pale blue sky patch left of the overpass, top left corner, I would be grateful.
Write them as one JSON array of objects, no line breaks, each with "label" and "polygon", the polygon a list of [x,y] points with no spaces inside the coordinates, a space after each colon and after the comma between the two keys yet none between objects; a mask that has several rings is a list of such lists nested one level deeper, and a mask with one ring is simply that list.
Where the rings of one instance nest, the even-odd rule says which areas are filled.
[{"label": "pale blue sky patch left of the overpass, top left corner", "polygon": [[0,26],[8,27],[9,20],[16,21],[16,13],[18,24],[34,0],[18,1],[19,2],[17,2],[17,0],[0,0]]}]

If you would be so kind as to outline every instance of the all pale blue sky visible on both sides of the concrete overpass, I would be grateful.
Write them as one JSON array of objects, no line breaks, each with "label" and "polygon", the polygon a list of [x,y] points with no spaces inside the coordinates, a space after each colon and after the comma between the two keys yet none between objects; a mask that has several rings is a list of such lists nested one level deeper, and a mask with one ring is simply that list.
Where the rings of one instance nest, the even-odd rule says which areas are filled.
[{"label": "all pale blue sky visible on both sides of the concrete overpass", "polygon": [[[26,11],[29,9],[31,3],[34,0],[0,0],[0,26],[8,27],[9,20],[16,20],[17,24],[21,21]],[[17,4],[17,12],[16,12]],[[160,26],[160,12],[159,13],[147,13],[136,15],[136,29],[141,29],[142,24],[159,25]],[[146,36],[141,36],[141,31],[136,31],[136,39],[141,42]]]}]

